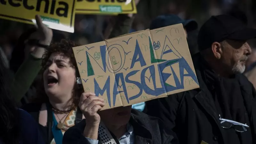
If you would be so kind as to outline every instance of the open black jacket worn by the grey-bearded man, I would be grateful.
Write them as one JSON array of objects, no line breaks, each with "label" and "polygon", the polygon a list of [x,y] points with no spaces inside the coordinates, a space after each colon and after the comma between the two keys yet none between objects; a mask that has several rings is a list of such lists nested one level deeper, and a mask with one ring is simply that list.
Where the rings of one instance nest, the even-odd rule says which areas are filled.
[{"label": "open black jacket worn by the grey-bearded man", "polygon": [[[200,88],[147,101],[146,113],[162,119],[177,134],[180,144],[200,144],[202,140],[209,144],[227,144],[230,140],[225,137],[212,94],[203,81],[199,58],[197,54],[192,59]],[[246,124],[250,126],[241,133],[241,144],[255,144],[256,92],[244,75],[238,75],[238,79],[244,99],[241,102],[246,111]]]}]

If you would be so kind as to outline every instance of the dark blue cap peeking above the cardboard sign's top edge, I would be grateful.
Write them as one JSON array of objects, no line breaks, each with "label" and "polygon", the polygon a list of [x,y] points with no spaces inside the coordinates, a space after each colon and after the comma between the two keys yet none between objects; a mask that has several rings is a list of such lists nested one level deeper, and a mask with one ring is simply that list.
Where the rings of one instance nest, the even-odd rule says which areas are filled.
[{"label": "dark blue cap peeking above the cardboard sign's top edge", "polygon": [[195,20],[183,20],[175,14],[164,14],[157,16],[156,19],[152,20],[149,29],[162,28],[179,23],[182,23],[183,27],[186,28],[187,31],[197,29],[197,23]]}]

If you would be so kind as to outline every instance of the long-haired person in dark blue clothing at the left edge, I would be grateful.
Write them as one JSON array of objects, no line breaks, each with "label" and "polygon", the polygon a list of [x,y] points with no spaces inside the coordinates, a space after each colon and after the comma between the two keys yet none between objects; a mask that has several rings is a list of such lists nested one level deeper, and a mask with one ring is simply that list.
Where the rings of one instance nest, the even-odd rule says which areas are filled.
[{"label": "long-haired person in dark blue clothing at the left edge", "polygon": [[44,144],[33,117],[17,108],[10,96],[8,71],[0,53],[0,143]]}]

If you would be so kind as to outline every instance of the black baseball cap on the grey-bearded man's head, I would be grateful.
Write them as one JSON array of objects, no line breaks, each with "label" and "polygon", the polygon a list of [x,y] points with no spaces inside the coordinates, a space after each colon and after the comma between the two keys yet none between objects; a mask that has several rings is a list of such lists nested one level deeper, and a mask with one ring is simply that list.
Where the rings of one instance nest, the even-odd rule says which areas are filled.
[{"label": "black baseball cap on the grey-bearded man's head", "polygon": [[249,40],[256,37],[256,29],[248,28],[241,20],[230,15],[212,16],[198,33],[199,51],[208,49],[213,42],[230,40]]}]

